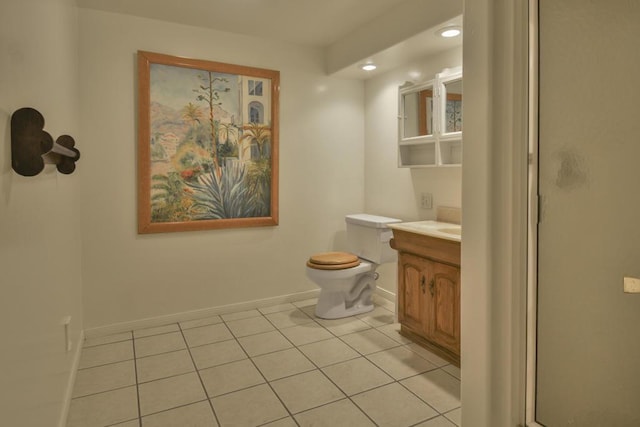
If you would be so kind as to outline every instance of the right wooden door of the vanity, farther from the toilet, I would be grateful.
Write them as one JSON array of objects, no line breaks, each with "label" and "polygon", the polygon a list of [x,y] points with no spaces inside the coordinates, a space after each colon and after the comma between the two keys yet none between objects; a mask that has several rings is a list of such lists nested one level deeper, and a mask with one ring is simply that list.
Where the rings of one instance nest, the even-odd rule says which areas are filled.
[{"label": "right wooden door of the vanity, farther from the toilet", "polygon": [[432,263],[427,292],[427,335],[460,354],[460,268]]}]

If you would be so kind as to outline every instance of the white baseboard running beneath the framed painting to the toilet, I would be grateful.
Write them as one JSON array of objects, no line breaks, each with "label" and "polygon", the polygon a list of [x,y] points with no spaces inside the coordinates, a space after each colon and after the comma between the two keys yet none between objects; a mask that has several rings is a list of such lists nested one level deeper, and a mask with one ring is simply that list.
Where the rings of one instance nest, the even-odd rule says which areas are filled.
[{"label": "white baseboard running beneath the framed painting to the toilet", "polygon": [[271,305],[285,304],[288,302],[302,301],[310,298],[317,298],[320,289],[311,291],[298,292],[295,294],[281,295],[273,298],[265,298],[241,302],[236,304],[228,304],[217,307],[203,308],[200,310],[185,311],[181,313],[167,314],[164,316],[149,317],[146,319],[132,320],[130,322],[115,323],[107,326],[99,326],[97,328],[86,329],[84,335],[87,338],[101,337],[105,335],[116,334],[119,332],[132,331],[135,329],[152,328],[162,326],[169,323],[185,322],[188,320],[200,319],[203,317],[211,317],[219,314],[233,313],[236,311],[252,310],[261,307],[269,307]]}]

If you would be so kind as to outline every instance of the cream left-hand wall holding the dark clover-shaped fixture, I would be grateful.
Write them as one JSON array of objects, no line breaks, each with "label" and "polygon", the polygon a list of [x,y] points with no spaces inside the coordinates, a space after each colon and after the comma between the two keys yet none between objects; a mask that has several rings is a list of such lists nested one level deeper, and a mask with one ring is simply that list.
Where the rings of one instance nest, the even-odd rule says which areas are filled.
[{"label": "cream left-hand wall holding the dark clover-shaped fixture", "polygon": [[[71,0],[0,3],[0,423],[54,426],[82,329],[80,182],[49,165],[11,169],[10,116],[31,106],[57,138],[78,133],[77,10]],[[60,321],[72,316],[73,350]]]}]

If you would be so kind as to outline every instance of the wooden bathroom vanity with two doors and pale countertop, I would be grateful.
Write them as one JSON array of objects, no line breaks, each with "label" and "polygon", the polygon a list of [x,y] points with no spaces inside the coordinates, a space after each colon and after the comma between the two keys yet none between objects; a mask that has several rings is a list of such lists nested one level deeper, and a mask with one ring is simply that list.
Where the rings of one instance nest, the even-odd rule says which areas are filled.
[{"label": "wooden bathroom vanity with two doors and pale countertop", "polygon": [[460,366],[460,225],[418,221],[388,227],[398,251],[400,333]]}]

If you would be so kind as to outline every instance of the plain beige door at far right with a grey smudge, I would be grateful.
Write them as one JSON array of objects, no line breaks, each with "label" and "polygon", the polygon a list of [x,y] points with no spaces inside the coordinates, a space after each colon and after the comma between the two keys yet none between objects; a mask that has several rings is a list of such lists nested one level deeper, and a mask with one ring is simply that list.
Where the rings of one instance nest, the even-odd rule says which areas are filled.
[{"label": "plain beige door at far right with a grey smudge", "polygon": [[640,426],[640,1],[539,0],[535,419]]}]

